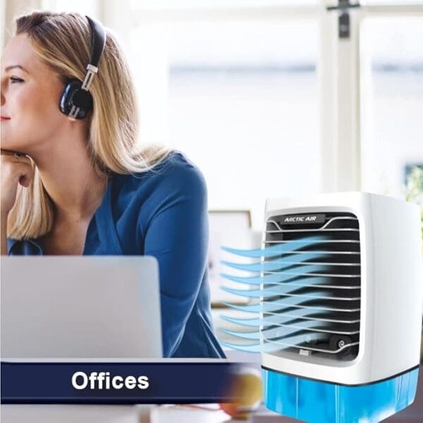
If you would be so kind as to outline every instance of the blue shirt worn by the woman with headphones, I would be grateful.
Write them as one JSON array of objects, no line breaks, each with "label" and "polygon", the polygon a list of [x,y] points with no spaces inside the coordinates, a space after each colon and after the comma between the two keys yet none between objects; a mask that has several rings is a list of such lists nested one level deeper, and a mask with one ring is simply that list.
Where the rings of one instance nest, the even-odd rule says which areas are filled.
[{"label": "blue shirt worn by the woman with headphones", "polygon": [[[207,281],[207,187],[172,152],[151,171],[114,174],[87,228],[83,255],[151,255],[159,262],[164,357],[225,357],[214,336]],[[9,255],[42,255],[8,239]]]}]

